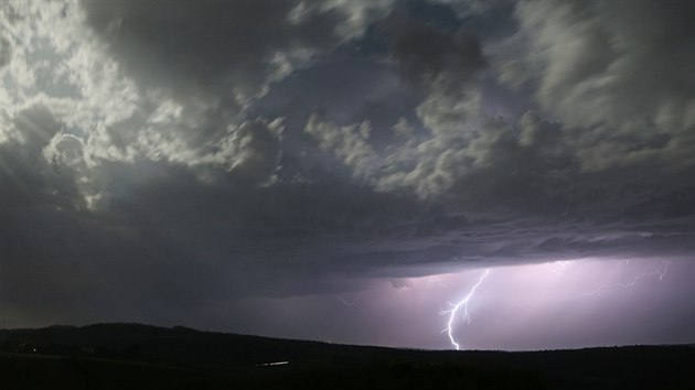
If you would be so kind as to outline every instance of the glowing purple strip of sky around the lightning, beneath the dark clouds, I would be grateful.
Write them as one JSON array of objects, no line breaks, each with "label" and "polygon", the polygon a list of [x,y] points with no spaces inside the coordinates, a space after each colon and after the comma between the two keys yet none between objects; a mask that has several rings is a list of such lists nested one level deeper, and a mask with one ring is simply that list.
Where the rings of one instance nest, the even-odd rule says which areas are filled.
[{"label": "glowing purple strip of sky around the lightning, beneath the dark clouds", "polygon": [[[228,323],[210,326],[333,343],[452,349],[442,333],[449,315],[441,312],[466,296],[482,271],[371,281],[365,290],[340,295],[348,304],[335,295],[227,302],[214,311],[231,313]],[[461,349],[689,343],[695,338],[689,299],[695,285],[688,277],[694,271],[689,261],[663,259],[493,268],[470,300],[471,322],[459,316],[453,335]]]}]

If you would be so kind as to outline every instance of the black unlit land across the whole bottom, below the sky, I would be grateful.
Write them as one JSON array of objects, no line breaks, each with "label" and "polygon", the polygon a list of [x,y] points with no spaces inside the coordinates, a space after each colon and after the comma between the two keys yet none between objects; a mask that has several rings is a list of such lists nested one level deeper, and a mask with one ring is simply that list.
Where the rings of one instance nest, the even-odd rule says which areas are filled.
[{"label": "black unlit land across the whole bottom, below the sky", "polygon": [[423,351],[103,324],[0,331],[0,389],[695,389],[693,346]]}]

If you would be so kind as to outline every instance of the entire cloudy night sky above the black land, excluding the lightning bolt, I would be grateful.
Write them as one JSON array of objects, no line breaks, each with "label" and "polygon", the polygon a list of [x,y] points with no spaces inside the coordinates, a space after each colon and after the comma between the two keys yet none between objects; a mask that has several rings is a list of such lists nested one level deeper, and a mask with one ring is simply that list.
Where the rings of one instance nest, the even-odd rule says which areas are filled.
[{"label": "entire cloudy night sky above the black land, excluding the lightning bolt", "polygon": [[4,1],[0,327],[695,342],[695,2]]}]

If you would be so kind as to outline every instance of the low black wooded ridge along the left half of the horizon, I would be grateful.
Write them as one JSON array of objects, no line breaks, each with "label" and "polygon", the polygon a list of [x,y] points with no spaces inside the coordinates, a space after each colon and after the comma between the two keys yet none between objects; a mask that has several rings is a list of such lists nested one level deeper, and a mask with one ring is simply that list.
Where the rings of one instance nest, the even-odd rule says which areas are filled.
[{"label": "low black wooded ridge along the left half of the horizon", "polygon": [[[354,347],[328,343],[201,332],[177,326],[97,324],[83,327],[0,331],[0,348],[147,361],[239,364],[324,358]],[[35,349],[35,351],[34,351]],[[374,349],[374,348],[373,348]]]}]

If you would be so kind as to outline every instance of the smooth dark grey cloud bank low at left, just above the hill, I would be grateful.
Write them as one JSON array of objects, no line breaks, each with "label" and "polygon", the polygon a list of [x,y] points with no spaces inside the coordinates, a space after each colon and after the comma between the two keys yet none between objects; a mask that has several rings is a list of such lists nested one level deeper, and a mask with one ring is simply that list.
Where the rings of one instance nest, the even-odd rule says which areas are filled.
[{"label": "smooth dark grey cloud bank low at left, just above the hill", "polygon": [[[20,177],[36,170],[4,166]],[[339,261],[343,252],[378,239],[417,207],[328,180],[254,189],[240,178],[201,185],[175,166],[104,169],[114,188],[108,207],[92,213],[75,209],[76,191],[64,202],[52,195],[52,172],[29,183],[3,177],[8,317],[132,318],[232,296],[327,291],[374,266]],[[47,194],[34,195],[44,186]]]}]

